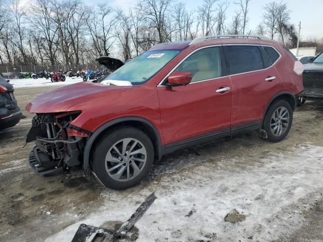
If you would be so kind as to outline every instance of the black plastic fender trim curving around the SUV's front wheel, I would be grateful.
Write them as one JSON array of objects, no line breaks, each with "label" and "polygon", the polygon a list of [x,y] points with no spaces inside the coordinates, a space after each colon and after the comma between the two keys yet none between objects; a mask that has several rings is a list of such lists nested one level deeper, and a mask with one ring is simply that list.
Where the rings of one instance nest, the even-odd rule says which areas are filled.
[{"label": "black plastic fender trim curving around the SUV's front wheel", "polygon": [[155,134],[155,137],[157,138],[158,155],[159,155],[159,158],[161,157],[161,149],[162,148],[161,148],[161,140],[160,140],[159,132],[150,121],[148,121],[145,118],[136,117],[136,116],[120,117],[120,118],[113,119],[110,122],[105,123],[100,128],[98,128],[96,131],[94,131],[94,133],[90,136],[90,138],[87,141],[85,148],[84,148],[84,160],[83,160],[83,169],[84,170],[90,170],[90,166],[89,166],[90,152],[91,152],[92,145],[93,145],[94,141],[96,140],[96,138],[102,132],[104,132],[107,128],[109,128],[113,125],[119,124],[121,122],[125,122],[125,121],[138,121],[138,122],[144,123],[144,124],[148,125],[150,128],[152,128],[152,130]]}]

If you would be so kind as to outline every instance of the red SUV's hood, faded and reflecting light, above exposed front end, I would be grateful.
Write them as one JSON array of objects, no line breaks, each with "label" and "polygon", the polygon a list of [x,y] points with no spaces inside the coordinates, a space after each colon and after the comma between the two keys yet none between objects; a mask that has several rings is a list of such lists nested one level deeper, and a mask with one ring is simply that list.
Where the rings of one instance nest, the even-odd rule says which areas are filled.
[{"label": "red SUV's hood, faded and reflecting light, above exposed front end", "polygon": [[76,83],[36,97],[26,106],[26,110],[35,113],[65,112],[76,104],[124,92],[128,88],[130,86],[107,86],[92,82]]}]

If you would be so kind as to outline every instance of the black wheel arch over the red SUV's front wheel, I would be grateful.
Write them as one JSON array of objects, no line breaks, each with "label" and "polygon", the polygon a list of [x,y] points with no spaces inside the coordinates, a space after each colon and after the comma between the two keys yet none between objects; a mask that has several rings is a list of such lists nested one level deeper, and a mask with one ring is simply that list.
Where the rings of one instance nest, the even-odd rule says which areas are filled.
[{"label": "black wheel arch over the red SUV's front wheel", "polygon": [[103,135],[104,132],[112,128],[115,128],[118,126],[124,126],[124,125],[132,126],[140,130],[143,130],[152,141],[155,157],[157,157],[157,159],[161,158],[162,145],[161,145],[160,135],[157,128],[149,120],[142,117],[136,117],[136,116],[121,117],[105,123],[104,125],[99,127],[96,131],[94,131],[94,133],[91,135],[91,137],[87,141],[84,148],[83,168],[85,170],[90,169],[89,163],[90,163],[91,151],[95,145],[95,142],[100,138],[100,136]]}]

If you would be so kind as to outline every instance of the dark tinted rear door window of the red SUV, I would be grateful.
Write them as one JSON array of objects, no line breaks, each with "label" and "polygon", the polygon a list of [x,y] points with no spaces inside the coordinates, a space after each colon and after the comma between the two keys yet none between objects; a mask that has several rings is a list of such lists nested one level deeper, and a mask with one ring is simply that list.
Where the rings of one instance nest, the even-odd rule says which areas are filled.
[{"label": "dark tinted rear door window of the red SUV", "polygon": [[264,69],[258,46],[228,45],[225,48],[230,75]]}]

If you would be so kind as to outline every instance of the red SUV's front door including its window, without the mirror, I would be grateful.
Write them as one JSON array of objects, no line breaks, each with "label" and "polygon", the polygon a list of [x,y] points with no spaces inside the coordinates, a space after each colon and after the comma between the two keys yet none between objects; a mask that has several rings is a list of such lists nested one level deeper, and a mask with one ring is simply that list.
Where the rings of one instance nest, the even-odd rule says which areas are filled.
[{"label": "red SUV's front door including its window, without the mirror", "polygon": [[[177,71],[191,72],[191,83],[157,87],[165,144],[175,146],[178,145],[175,142],[202,139],[198,136],[212,136],[216,131],[230,132],[231,82],[226,75],[222,47],[195,51],[173,72]],[[223,88],[227,90],[217,92]]]}]

